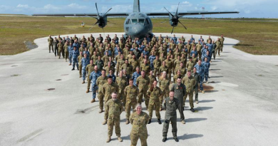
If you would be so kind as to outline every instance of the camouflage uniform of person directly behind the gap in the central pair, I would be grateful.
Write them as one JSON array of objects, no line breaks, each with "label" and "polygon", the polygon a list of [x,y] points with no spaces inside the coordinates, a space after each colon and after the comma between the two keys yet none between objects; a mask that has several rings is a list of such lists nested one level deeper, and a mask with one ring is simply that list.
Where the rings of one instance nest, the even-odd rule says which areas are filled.
[{"label": "camouflage uniform of person directly behind the gap in the central pair", "polygon": [[148,85],[150,84],[150,78],[148,78],[148,76],[145,75],[145,78],[141,76],[139,76],[136,79],[136,84],[138,85],[139,88],[139,98],[138,98],[138,103],[142,103],[143,102],[143,95],[144,95],[144,99],[145,99],[145,106],[148,108],[148,103],[149,103],[149,99],[147,96],[147,91],[148,91]]}]

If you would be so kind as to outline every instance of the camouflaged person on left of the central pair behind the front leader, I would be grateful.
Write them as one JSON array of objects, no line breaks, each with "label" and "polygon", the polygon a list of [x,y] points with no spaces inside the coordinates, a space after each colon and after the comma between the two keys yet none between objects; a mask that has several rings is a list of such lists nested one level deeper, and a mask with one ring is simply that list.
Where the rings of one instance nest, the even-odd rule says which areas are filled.
[{"label": "camouflaged person on left of the central pair behind the front leader", "polygon": [[129,85],[125,87],[124,93],[126,97],[126,103],[125,103],[125,117],[126,121],[125,124],[129,124],[129,117],[130,117],[130,108],[132,107],[133,110],[135,110],[135,106],[137,104],[137,96],[139,94],[139,89],[133,85],[133,79],[128,80]]}]

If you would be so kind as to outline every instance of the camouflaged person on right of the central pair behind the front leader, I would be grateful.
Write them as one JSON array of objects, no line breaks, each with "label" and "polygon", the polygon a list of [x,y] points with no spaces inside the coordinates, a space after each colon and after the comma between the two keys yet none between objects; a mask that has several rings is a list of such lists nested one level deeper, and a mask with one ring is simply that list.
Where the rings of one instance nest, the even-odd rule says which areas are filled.
[{"label": "camouflaged person on right of the central pair behind the front leader", "polygon": [[147,95],[150,98],[149,106],[148,106],[148,112],[150,115],[150,120],[148,124],[150,124],[151,119],[153,117],[153,109],[155,109],[155,115],[156,118],[158,118],[158,123],[161,124],[160,121],[160,98],[163,98],[164,92],[157,86],[158,81],[154,80],[153,85],[150,87],[150,89],[147,91]]}]

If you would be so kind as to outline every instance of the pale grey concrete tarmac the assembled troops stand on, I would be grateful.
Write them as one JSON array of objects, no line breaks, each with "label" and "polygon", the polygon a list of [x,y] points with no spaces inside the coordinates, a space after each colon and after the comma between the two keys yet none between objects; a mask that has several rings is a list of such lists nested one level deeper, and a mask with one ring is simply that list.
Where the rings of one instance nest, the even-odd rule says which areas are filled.
[{"label": "pale grey concrete tarmac the assembled troops stand on", "polygon": [[[112,38],[115,33],[109,34]],[[77,36],[83,35],[90,34]],[[190,38],[176,34],[182,35]],[[194,37],[197,41],[200,35]],[[90,103],[92,92],[86,93],[87,84],[81,84],[78,71],[48,53],[47,37],[34,42],[34,50],[0,56],[0,145],[130,145],[125,112],[120,122],[123,142],[113,133],[106,143],[104,113],[98,113],[98,100]],[[225,38],[223,53],[212,60],[205,83],[210,90],[199,93],[196,113],[190,111],[187,98],[186,124],[177,123],[180,142],[173,140],[171,126],[168,141],[162,142],[163,125],[154,113],[147,126],[148,145],[278,145],[278,56],[254,56],[232,48],[238,42]],[[143,111],[148,113],[145,103]],[[165,111],[160,113],[164,122]]]}]

